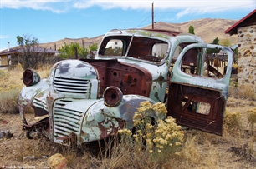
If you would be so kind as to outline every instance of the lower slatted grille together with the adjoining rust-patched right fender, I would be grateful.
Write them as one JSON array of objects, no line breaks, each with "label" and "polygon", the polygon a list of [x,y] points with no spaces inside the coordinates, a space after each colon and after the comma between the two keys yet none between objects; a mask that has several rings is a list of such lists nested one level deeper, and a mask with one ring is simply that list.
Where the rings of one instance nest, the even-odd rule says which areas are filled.
[{"label": "lower slatted grille together with the adjoining rust-patched right fender", "polygon": [[64,143],[76,136],[78,145],[115,135],[120,128],[131,129],[132,117],[148,97],[125,95],[116,107],[107,107],[103,99],[59,98],[53,105],[54,142]]}]

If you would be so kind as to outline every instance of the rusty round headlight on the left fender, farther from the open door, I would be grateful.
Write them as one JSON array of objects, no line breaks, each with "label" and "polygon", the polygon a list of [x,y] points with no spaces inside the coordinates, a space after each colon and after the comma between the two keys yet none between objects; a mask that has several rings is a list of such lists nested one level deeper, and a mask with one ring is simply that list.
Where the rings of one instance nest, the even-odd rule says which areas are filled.
[{"label": "rusty round headlight on the left fender, farther from the open door", "polygon": [[27,69],[23,72],[23,83],[29,87],[37,84],[40,81],[40,76],[37,72],[34,72],[31,69]]}]

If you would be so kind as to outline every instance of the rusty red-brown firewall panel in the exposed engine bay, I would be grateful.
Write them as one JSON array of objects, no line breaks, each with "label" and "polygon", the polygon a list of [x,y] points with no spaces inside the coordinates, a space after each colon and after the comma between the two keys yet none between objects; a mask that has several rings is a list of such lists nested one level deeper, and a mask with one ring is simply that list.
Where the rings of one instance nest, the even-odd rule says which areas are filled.
[{"label": "rusty red-brown firewall panel in the exposed engine bay", "polygon": [[124,95],[138,94],[149,97],[152,76],[145,68],[137,67],[130,63],[111,60],[93,60],[89,61],[99,73],[100,96],[102,96],[106,87],[119,87]]}]

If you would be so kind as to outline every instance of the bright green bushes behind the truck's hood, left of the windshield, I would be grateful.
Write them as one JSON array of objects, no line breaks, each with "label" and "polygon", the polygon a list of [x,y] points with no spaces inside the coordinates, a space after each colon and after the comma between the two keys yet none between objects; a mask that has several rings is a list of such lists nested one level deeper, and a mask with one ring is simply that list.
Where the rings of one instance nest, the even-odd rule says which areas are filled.
[{"label": "bright green bushes behind the truck's hood, left of the windshield", "polygon": [[67,45],[66,43],[64,43],[64,46],[59,48],[59,56],[67,59],[67,58],[74,58],[75,57],[75,48],[77,50],[77,54],[78,57],[80,58],[85,58],[87,56],[88,49],[87,48],[83,48],[79,45],[78,42],[75,43],[71,43],[69,45]]}]

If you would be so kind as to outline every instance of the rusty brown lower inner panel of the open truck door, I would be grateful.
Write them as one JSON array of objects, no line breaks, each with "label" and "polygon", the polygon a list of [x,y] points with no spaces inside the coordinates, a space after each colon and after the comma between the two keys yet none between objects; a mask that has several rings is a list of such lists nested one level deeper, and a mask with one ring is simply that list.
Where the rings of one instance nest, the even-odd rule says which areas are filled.
[{"label": "rusty brown lower inner panel of the open truck door", "polygon": [[[199,103],[207,105],[206,112],[198,110]],[[171,83],[167,104],[178,124],[222,135],[225,100],[220,92]]]}]

